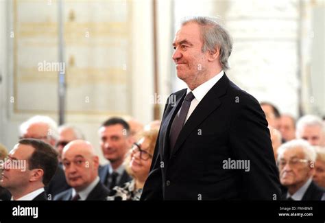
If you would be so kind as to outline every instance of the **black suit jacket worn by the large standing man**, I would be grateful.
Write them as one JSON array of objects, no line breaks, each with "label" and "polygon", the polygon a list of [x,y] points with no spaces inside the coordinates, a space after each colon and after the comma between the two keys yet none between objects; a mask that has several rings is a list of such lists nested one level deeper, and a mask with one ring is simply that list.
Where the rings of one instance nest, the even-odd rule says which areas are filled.
[{"label": "black suit jacket worn by the large standing man", "polygon": [[[265,114],[224,74],[184,124],[171,154],[171,123],[186,89],[167,99],[151,172],[141,200],[280,200],[280,182]],[[171,98],[176,97],[176,105]],[[250,171],[224,161],[250,161]]]}]

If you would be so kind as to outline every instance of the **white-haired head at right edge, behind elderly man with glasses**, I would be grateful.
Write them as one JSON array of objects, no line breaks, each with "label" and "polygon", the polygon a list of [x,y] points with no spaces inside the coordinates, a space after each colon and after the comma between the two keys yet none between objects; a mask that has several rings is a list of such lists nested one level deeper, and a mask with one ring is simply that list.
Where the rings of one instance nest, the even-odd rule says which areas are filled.
[{"label": "white-haired head at right edge, behind elderly man with glasses", "polygon": [[297,139],[304,139],[311,145],[325,145],[325,127],[322,119],[315,115],[304,115],[296,126]]}]

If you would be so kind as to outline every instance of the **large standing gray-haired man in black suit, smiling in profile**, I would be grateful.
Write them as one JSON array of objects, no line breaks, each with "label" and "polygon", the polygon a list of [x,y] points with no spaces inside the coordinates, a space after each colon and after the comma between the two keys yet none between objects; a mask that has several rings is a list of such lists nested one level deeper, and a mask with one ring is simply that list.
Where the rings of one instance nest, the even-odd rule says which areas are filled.
[{"label": "large standing gray-haired man in black suit, smiling in profile", "polygon": [[188,89],[167,99],[141,200],[279,200],[263,110],[224,73],[228,32],[195,17],[182,23],[173,47]]}]

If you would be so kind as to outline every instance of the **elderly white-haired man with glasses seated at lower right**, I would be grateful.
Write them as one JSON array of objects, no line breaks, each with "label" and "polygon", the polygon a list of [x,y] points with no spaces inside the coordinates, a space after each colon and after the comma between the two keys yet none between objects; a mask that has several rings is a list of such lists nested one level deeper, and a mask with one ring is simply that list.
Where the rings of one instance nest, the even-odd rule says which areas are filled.
[{"label": "elderly white-haired man with glasses seated at lower right", "polygon": [[324,190],[313,182],[316,152],[307,141],[295,139],[278,149],[282,200],[322,200]]}]

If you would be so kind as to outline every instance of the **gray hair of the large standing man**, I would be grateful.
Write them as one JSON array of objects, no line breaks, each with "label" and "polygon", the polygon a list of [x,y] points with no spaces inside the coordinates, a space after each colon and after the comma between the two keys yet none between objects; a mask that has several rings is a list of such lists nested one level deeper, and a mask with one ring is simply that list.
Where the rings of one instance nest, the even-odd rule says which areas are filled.
[{"label": "gray hair of the large standing man", "polygon": [[228,31],[217,22],[217,19],[206,16],[186,18],[181,24],[186,25],[187,23],[200,25],[203,40],[202,51],[215,51],[216,47],[218,47],[221,67],[224,71],[229,69],[228,58],[232,51],[232,38]]}]

